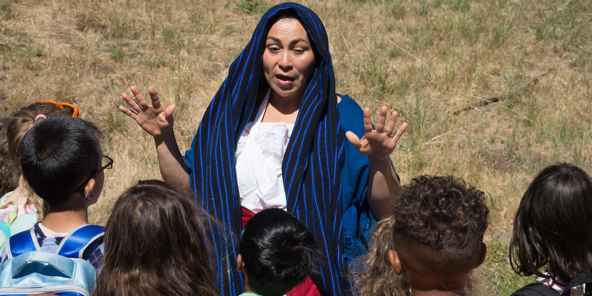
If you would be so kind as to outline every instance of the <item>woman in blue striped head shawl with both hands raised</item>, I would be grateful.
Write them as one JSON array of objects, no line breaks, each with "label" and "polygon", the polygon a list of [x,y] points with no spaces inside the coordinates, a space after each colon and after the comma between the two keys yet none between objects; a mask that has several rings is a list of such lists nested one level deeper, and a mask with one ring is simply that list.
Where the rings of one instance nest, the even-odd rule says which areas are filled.
[{"label": "woman in blue striped head shawl with both hands raised", "polygon": [[172,129],[175,105],[163,108],[153,88],[148,89],[152,105],[136,86],[131,91],[137,102],[123,94],[133,111],[120,110],[155,138],[163,179],[191,188],[202,207],[234,234],[225,236],[218,228],[208,238],[216,248],[223,295],[242,289],[233,270],[242,220],[268,207],[285,208],[316,234],[323,255],[313,281],[321,294],[352,291],[342,276],[344,261],[365,252],[375,218],[391,210],[399,184],[388,156],[407,124],[395,133],[397,112],[385,126],[382,107],[373,129],[368,108],[362,112],[334,87],[322,22],[303,5],[285,3],[259,21],[185,156]]}]

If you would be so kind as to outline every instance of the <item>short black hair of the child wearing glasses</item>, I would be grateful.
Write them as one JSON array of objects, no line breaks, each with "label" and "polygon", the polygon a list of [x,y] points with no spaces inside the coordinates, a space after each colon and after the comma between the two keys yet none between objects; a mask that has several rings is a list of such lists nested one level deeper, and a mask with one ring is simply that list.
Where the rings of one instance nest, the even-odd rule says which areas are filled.
[{"label": "short black hair of the child wearing glasses", "polygon": [[19,146],[22,175],[49,205],[59,205],[101,162],[101,131],[70,116],[53,116],[35,124]]}]

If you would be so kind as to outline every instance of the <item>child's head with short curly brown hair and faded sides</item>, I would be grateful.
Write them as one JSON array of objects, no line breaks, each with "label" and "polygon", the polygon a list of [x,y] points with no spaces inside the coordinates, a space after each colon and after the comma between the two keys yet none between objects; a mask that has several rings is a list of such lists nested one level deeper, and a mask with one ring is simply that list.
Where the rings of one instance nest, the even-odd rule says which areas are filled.
[{"label": "child's head with short curly brown hair and faded sides", "polygon": [[420,176],[393,201],[389,260],[417,291],[463,291],[485,259],[482,191],[451,176]]}]

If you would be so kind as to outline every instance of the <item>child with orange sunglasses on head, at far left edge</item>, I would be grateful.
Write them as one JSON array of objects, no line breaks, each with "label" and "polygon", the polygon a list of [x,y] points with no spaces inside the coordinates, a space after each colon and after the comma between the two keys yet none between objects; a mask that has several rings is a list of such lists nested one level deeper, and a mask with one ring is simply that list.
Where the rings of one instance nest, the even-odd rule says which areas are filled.
[{"label": "child with orange sunglasses on head, at far left edge", "polygon": [[31,229],[47,214],[47,205],[22,178],[18,147],[31,127],[53,116],[80,114],[71,104],[39,101],[0,118],[0,249],[11,234]]}]

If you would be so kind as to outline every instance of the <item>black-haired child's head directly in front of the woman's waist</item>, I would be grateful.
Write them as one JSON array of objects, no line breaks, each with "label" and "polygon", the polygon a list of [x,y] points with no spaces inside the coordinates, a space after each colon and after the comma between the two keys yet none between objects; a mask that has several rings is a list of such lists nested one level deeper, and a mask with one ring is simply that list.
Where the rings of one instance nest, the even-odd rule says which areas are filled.
[{"label": "black-haired child's head directly in front of the woman's waist", "polygon": [[244,227],[239,271],[263,296],[281,296],[304,281],[318,265],[317,243],[306,225],[279,208],[255,214]]}]

